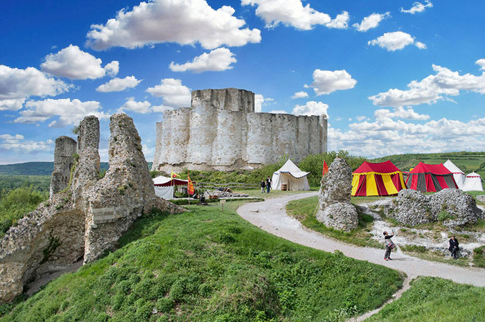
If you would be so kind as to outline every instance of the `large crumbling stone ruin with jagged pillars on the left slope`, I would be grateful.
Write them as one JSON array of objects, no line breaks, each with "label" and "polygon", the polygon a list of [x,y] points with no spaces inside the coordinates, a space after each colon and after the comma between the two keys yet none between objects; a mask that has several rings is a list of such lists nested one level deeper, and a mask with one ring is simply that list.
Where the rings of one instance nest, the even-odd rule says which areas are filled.
[{"label": "large crumbling stone ruin with jagged pillars on the left slope", "polygon": [[[132,118],[115,114],[109,128],[105,177],[99,179],[99,120],[87,116],[80,123],[78,156],[73,158],[67,187],[25,215],[0,240],[0,303],[12,301],[29,280],[62,270],[80,258],[96,260],[153,206],[170,213],[183,211],[155,196]],[[56,150],[59,146],[65,153],[58,155],[69,154],[61,148],[69,140],[60,141]],[[67,159],[58,160],[64,174]],[[60,187],[58,181],[53,186]]]}]

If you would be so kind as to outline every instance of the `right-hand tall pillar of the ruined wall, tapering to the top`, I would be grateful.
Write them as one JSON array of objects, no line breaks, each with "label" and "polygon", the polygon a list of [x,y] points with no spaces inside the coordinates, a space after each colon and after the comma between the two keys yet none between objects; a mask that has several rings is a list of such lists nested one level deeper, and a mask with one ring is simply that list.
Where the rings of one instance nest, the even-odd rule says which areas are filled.
[{"label": "right-hand tall pillar of the ruined wall, tapering to the top", "polygon": [[114,114],[109,129],[109,170],[89,191],[85,262],[114,247],[132,222],[155,205],[153,181],[132,118]]}]

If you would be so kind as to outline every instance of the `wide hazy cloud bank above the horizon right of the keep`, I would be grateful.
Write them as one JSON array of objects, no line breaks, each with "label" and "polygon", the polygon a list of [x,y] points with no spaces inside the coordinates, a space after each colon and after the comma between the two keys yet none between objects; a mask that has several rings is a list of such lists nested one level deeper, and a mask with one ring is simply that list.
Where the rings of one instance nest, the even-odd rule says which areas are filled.
[{"label": "wide hazy cloud bank above the horizon right of the keep", "polygon": [[[329,150],[363,156],[451,151],[484,151],[485,118],[407,123],[380,116],[373,122],[351,123],[348,129],[328,127]],[[405,169],[401,169],[405,170]]]}]

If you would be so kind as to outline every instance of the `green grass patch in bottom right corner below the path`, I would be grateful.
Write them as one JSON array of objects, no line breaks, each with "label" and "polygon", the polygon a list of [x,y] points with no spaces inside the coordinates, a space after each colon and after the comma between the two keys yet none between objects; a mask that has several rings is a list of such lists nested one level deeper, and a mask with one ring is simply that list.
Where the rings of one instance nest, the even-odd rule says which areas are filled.
[{"label": "green grass patch in bottom right corner below the path", "polygon": [[485,321],[485,287],[420,277],[401,298],[385,305],[366,322]]}]

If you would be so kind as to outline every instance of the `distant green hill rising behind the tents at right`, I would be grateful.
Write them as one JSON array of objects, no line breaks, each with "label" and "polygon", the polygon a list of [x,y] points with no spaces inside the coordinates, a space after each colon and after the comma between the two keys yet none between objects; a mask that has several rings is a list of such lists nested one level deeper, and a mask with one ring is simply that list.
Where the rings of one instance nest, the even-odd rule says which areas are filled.
[{"label": "distant green hill rising behind the tents at right", "polygon": [[438,164],[445,163],[448,159],[466,174],[475,171],[479,175],[482,175],[482,177],[485,177],[485,152],[396,154],[382,156],[382,158],[371,159],[369,161],[382,162],[391,160],[400,170],[409,171],[410,168],[414,168],[420,161]]}]

